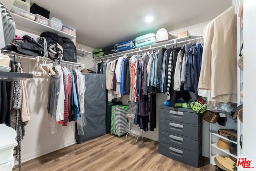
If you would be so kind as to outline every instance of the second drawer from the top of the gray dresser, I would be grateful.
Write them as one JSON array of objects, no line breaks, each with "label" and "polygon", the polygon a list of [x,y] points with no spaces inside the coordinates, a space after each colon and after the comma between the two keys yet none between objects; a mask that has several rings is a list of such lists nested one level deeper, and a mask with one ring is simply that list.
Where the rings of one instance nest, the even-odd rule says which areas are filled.
[{"label": "second drawer from the top of the gray dresser", "polygon": [[159,119],[159,130],[199,139],[202,130],[202,122],[196,127],[187,123]]}]

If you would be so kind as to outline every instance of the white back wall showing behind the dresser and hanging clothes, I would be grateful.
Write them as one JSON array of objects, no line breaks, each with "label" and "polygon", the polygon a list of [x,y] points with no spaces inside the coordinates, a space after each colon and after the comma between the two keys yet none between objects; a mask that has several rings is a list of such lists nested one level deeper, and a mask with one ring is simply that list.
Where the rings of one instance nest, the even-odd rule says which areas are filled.
[{"label": "white back wall showing behind the dresser and hanging clothes", "polygon": [[[178,32],[182,31],[182,30],[188,30],[188,32],[190,33],[191,36],[203,36],[204,33],[204,27],[208,24],[208,22],[202,22],[199,24],[195,24],[192,26],[188,26],[185,28],[181,28],[178,30],[173,30],[171,32],[169,32],[172,36],[177,37]],[[192,95],[191,93],[191,97],[195,98],[195,96]],[[120,101],[122,101],[124,104],[127,104],[126,101],[129,99],[128,95],[123,95],[122,99]],[[147,132],[143,132],[143,136],[147,137],[149,139],[153,139],[158,141],[158,120],[159,120],[159,113],[158,113],[158,106],[164,104],[164,101],[168,100],[168,97],[166,97],[166,94],[162,94],[162,93],[158,93],[156,94],[156,129],[154,129],[154,131],[147,131]],[[206,121],[203,121],[203,147],[202,147],[202,154],[206,157],[209,157],[210,155],[210,137],[209,137],[209,123]]]}]

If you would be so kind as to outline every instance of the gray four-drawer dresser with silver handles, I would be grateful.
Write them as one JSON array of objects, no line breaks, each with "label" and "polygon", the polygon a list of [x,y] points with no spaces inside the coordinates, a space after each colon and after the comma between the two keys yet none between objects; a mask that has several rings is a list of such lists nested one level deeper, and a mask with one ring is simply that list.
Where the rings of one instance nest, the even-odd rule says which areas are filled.
[{"label": "gray four-drawer dresser with silver handles", "polygon": [[158,153],[193,167],[202,156],[202,114],[192,109],[159,106]]}]

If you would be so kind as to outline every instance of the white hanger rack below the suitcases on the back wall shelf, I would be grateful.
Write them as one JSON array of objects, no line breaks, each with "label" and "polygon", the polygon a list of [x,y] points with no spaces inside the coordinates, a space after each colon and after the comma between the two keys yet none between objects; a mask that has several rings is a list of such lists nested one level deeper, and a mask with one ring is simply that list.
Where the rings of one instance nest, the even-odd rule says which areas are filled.
[{"label": "white hanger rack below the suitcases on the back wall shelf", "polygon": [[[145,49],[142,49],[144,47],[136,48],[136,49],[128,50],[128,53],[126,51],[118,52],[118,53],[116,53],[116,55],[112,54],[112,55],[106,55],[106,57],[104,57],[104,56],[96,57],[93,60],[98,61],[98,60],[104,60],[104,59],[114,59],[114,58],[117,58],[119,56],[128,55],[128,54],[138,54],[139,52],[144,52],[144,51],[151,50],[151,49],[154,50],[154,49],[158,49],[158,48],[162,48],[162,47],[166,48],[167,46],[173,46],[173,45],[177,45],[177,44],[180,45],[180,44],[184,44],[184,43],[187,43],[187,42],[192,42],[193,43],[193,41],[196,41],[196,40],[201,40],[201,42],[202,42],[202,39],[203,39],[202,36],[200,36],[200,37],[196,36],[196,38],[192,38],[192,39],[189,39],[188,37],[186,37],[186,40],[184,40],[184,38],[178,38],[178,39],[173,39],[173,40],[166,41],[166,43],[168,43],[168,44],[163,44],[164,42],[160,42],[160,43],[157,43],[157,44],[150,45],[149,48],[146,48],[148,46],[145,46]],[[182,41],[176,41],[176,40],[182,40]],[[172,43],[169,43],[169,42],[172,42]],[[158,45],[158,44],[162,44],[162,45]],[[134,50],[136,50],[136,51],[134,51]]]}]

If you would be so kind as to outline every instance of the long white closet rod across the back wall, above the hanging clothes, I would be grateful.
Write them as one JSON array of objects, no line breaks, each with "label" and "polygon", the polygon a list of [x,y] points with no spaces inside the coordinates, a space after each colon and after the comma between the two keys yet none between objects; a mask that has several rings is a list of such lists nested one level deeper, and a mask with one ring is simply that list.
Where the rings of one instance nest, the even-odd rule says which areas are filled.
[{"label": "long white closet rod across the back wall, above the hanging clothes", "polygon": [[119,55],[115,55],[115,56],[108,56],[108,57],[106,57],[106,58],[94,59],[94,61],[104,60],[104,59],[109,59],[109,58],[116,58],[116,57],[118,57],[118,56],[123,56],[123,55],[128,55],[128,54],[134,54],[134,53],[138,53],[138,52],[142,52],[142,51],[146,51],[146,50],[150,50],[150,49],[157,49],[157,48],[162,48],[162,47],[170,46],[170,45],[173,45],[173,44],[181,44],[181,43],[185,43],[185,42],[188,42],[188,41],[192,42],[193,40],[202,40],[202,39],[203,39],[203,37],[194,38],[194,39],[189,39],[189,40],[183,40],[183,41],[180,41],[180,42],[173,42],[173,43],[164,44],[164,45],[156,46],[156,47],[150,47],[150,48],[142,49],[142,50],[140,50],[140,48],[138,48],[139,50],[134,51],[134,52],[119,54]]}]

